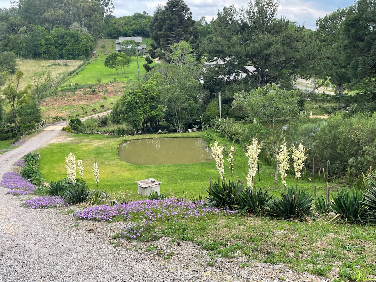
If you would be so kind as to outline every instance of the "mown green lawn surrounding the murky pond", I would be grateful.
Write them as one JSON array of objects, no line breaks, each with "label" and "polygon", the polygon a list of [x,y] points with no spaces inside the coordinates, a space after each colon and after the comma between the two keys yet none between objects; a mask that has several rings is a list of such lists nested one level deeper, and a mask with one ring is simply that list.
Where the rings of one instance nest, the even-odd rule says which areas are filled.
[{"label": "mown green lawn surrounding the murky pond", "polygon": [[[211,132],[211,131],[210,131]],[[190,136],[205,137],[204,132],[191,132],[182,134],[164,134],[158,135],[159,138]],[[216,136],[216,133],[211,132]],[[156,135],[137,135],[127,138],[156,138]],[[111,193],[121,191],[135,192],[137,185],[135,181],[153,177],[162,182],[161,192],[169,195],[180,195],[185,193],[189,196],[191,193],[199,194],[204,192],[209,186],[209,179],[218,180],[218,171],[215,162],[201,162],[196,164],[178,164],[178,165],[132,165],[121,161],[118,156],[117,146],[123,139],[118,136],[104,136],[92,134],[75,134],[70,136],[70,140],[65,143],[55,143],[39,150],[41,154],[40,170],[42,177],[47,182],[56,181],[66,177],[64,169],[65,155],[70,152],[83,160],[85,167],[84,180],[87,181],[89,188],[94,188],[95,183],[92,176],[91,167],[94,162],[100,165],[99,186],[105,188]],[[228,141],[218,138],[222,144]],[[214,140],[210,141],[214,144]],[[240,146],[237,146],[237,155],[235,159],[234,179],[245,181],[245,175],[248,171],[247,158]],[[229,179],[229,169],[225,161],[225,177]],[[267,165],[260,165],[260,182],[256,180],[256,185],[268,188],[272,194],[279,195],[282,190],[282,184],[274,185],[274,168]],[[256,175],[257,177],[257,175]],[[295,185],[296,180],[293,175],[287,179],[288,186]],[[305,180],[299,180],[299,188],[306,188],[313,193],[313,185],[317,185],[318,193],[324,193],[325,183],[311,183]]]}]

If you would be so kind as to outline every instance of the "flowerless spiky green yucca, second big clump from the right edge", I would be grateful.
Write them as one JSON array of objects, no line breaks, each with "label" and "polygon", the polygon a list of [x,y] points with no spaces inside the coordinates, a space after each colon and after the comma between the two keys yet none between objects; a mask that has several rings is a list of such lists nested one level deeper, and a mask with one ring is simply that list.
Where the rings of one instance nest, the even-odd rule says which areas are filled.
[{"label": "flowerless spiky green yucca, second big clump from the right edge", "polygon": [[367,213],[363,202],[362,191],[343,187],[337,191],[337,196],[333,198],[331,209],[349,221],[363,221]]}]

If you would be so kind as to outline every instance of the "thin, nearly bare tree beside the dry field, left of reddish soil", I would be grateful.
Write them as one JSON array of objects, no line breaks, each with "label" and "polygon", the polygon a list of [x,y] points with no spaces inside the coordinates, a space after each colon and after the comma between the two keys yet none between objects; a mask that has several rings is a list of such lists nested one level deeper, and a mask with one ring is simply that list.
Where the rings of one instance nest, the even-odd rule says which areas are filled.
[{"label": "thin, nearly bare tree beside the dry field, left of reddish soil", "polygon": [[32,93],[35,99],[36,114],[43,99],[56,96],[58,86],[62,81],[62,77],[53,77],[51,71],[45,69],[42,71],[34,72],[31,81],[34,85]]}]

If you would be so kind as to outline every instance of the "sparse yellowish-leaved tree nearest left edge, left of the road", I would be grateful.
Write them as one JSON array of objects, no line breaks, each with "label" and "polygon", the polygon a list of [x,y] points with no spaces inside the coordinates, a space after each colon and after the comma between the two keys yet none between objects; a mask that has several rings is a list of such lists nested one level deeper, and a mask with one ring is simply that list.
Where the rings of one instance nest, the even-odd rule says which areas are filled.
[{"label": "sparse yellowish-leaved tree nearest left edge, left of the road", "polygon": [[27,85],[24,89],[18,89],[20,85],[20,80],[23,77],[23,72],[21,70],[17,70],[14,76],[8,76],[6,78],[6,85],[3,89],[3,96],[6,100],[8,100],[9,106],[11,106],[12,111],[12,118],[11,122],[14,123],[17,129],[17,109],[23,103],[26,103],[29,100],[27,94],[29,94],[29,90],[31,85]]}]

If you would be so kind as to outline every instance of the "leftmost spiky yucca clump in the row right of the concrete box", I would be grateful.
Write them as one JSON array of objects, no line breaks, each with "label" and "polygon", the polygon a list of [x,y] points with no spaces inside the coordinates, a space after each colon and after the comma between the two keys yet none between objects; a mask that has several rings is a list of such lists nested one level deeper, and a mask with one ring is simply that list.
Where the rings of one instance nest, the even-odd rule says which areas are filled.
[{"label": "leftmost spiky yucca clump in the row right of the concrete box", "polygon": [[229,180],[228,182],[222,181],[221,185],[218,185],[217,182],[214,182],[211,190],[206,191],[209,193],[209,196],[205,197],[205,199],[210,206],[236,209],[237,197],[243,193],[243,191],[243,183]]}]

